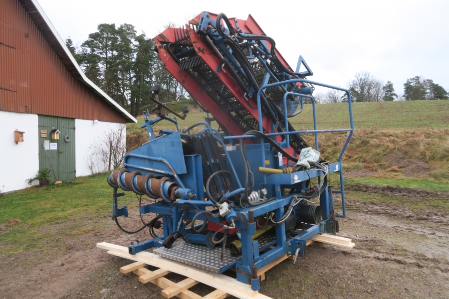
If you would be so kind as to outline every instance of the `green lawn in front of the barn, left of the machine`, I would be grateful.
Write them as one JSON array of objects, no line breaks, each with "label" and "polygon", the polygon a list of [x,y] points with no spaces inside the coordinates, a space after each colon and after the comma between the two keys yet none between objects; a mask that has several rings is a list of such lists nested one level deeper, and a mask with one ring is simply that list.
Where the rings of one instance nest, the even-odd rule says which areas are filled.
[{"label": "green lawn in front of the barn, left of the machine", "polygon": [[[74,182],[34,186],[0,198],[0,255],[55,246],[66,237],[102,226],[112,213],[108,174],[77,178]],[[135,202],[132,193],[121,203]],[[76,219],[76,221],[74,221]],[[56,225],[54,229],[52,226]],[[59,226],[59,227],[58,227]]]}]

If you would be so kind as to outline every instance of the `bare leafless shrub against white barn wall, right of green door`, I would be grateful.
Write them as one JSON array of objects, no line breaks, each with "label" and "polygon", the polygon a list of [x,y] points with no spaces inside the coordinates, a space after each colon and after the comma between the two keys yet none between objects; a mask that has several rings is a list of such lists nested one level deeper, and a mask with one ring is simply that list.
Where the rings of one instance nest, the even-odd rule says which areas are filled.
[{"label": "bare leafless shrub against white barn wall, right of green door", "polygon": [[92,173],[98,173],[108,170],[109,159],[112,169],[121,167],[125,153],[126,126],[117,124],[116,128],[108,126],[108,130],[103,132],[102,140],[94,141],[84,160]]}]

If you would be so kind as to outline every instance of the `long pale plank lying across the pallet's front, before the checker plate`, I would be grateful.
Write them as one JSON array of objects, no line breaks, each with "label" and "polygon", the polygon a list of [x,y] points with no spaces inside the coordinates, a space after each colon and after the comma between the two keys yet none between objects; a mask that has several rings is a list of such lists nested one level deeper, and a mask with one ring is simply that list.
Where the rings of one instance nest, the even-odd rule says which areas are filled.
[{"label": "long pale plank lying across the pallet's front, before the checker plate", "polygon": [[139,252],[135,255],[130,255],[128,253],[128,248],[123,246],[118,246],[109,243],[98,243],[98,248],[109,250],[109,254],[119,256],[122,258],[142,262],[148,265],[152,265],[158,268],[167,269],[171,272],[190,277],[200,283],[211,286],[215,289],[224,291],[225,293],[235,296],[237,298],[247,299],[247,298],[264,298],[269,299],[269,297],[259,294],[257,291],[252,291],[249,285],[238,282],[237,280],[225,276],[223,274],[218,274],[215,272],[207,271],[204,269],[199,269],[194,266],[186,265],[173,260],[168,260],[163,257],[157,256],[150,252]]}]

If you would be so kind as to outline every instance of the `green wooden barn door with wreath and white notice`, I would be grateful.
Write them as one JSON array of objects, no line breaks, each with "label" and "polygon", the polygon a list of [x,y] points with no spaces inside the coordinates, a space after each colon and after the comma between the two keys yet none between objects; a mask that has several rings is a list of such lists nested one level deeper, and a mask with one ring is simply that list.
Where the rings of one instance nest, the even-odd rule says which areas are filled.
[{"label": "green wooden barn door with wreath and white notice", "polygon": [[[75,179],[75,120],[39,115],[38,124],[39,168],[50,169],[51,181]],[[58,140],[51,139],[53,128],[61,132]],[[46,137],[42,137],[42,131],[47,132]],[[66,135],[70,136],[69,142],[64,141]]]}]

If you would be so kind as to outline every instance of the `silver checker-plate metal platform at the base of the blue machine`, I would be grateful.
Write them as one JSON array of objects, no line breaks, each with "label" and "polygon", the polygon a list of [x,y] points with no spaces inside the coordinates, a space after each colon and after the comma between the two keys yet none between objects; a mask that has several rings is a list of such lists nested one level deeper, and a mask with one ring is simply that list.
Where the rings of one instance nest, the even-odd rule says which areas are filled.
[{"label": "silver checker-plate metal platform at the base of the blue machine", "polygon": [[[262,248],[275,240],[275,235],[262,235],[257,238],[259,248]],[[160,247],[154,249],[153,253],[170,260],[216,273],[220,273],[220,269],[241,259],[241,256],[231,256],[229,249],[226,248],[223,263],[220,260],[220,255],[222,254],[221,246],[209,249],[206,245],[189,244],[182,239],[177,240],[169,249]]]}]

